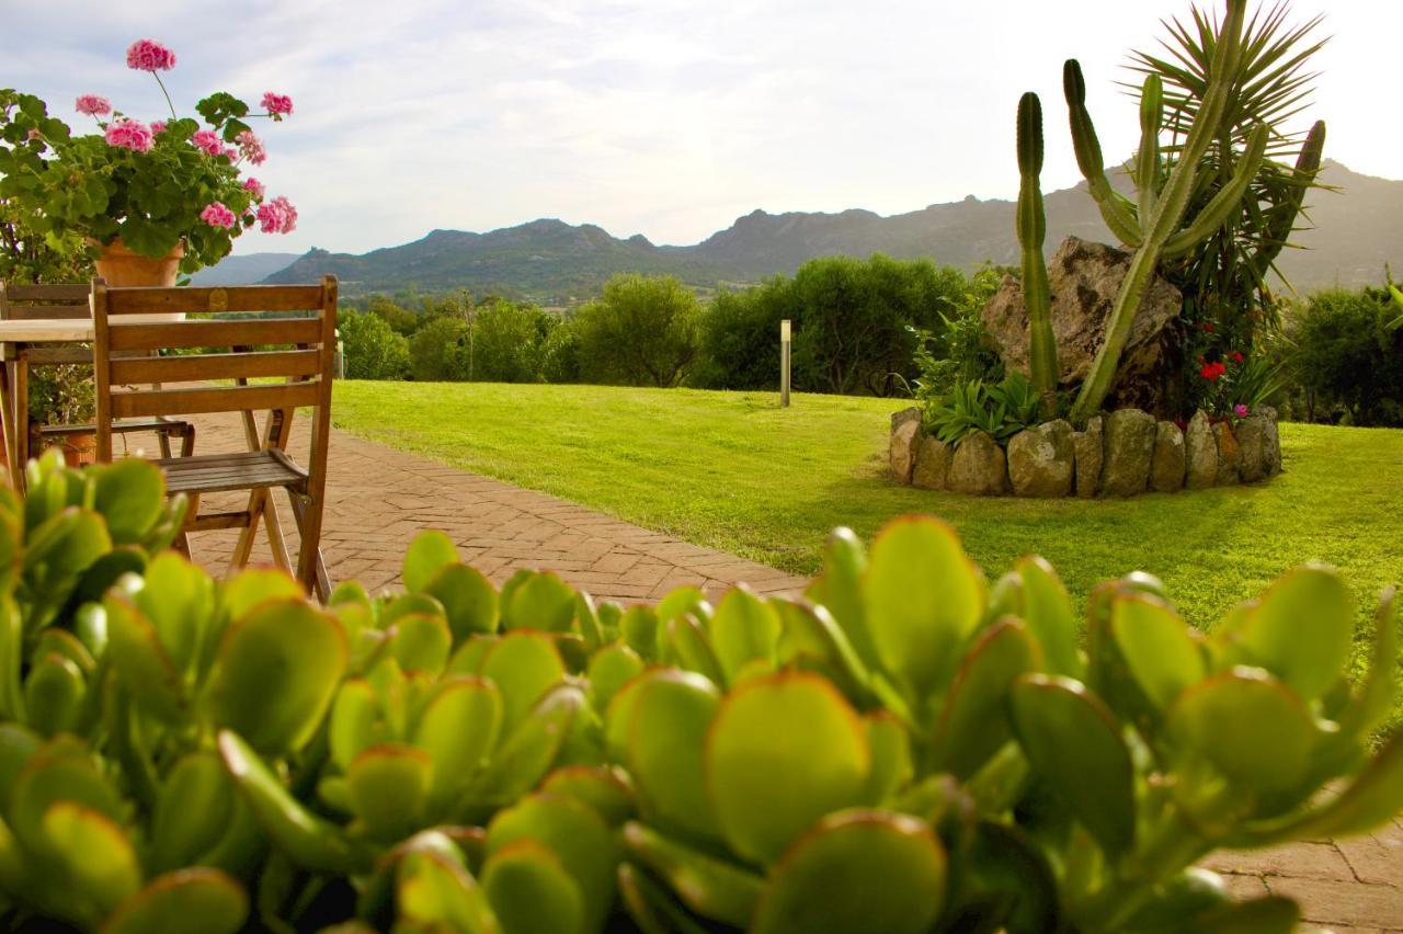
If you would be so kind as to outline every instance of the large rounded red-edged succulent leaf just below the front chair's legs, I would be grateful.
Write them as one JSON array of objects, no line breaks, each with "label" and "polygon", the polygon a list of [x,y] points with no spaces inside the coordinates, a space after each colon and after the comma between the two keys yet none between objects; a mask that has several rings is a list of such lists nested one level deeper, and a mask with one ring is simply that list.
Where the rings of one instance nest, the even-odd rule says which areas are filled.
[{"label": "large rounded red-edged succulent leaf just below the front chair's legs", "polygon": [[210,717],[261,752],[300,749],[325,715],[347,656],[330,613],[304,600],[262,603],[224,632],[210,675]]}]

